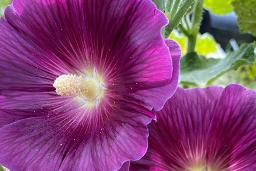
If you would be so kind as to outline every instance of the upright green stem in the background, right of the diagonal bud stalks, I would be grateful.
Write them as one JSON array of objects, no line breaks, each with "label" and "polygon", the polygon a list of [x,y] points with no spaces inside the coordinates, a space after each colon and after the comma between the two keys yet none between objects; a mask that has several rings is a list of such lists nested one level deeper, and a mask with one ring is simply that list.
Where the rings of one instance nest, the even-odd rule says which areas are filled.
[{"label": "upright green stem in the background, right of the diagonal bud stalks", "polygon": [[201,24],[203,4],[204,4],[204,0],[195,0],[191,30],[190,30],[190,35],[188,37],[187,53],[195,51],[195,43],[197,41],[197,34],[199,32],[200,24]]}]

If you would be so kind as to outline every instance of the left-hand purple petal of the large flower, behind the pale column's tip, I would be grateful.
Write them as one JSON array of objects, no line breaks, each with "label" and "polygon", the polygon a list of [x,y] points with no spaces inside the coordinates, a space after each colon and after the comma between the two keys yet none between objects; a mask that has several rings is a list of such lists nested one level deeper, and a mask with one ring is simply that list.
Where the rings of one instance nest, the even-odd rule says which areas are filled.
[{"label": "left-hand purple petal of the large flower, behind the pale column's tip", "polygon": [[44,51],[3,18],[0,27],[0,108],[36,111],[67,101],[58,97],[52,86],[59,73],[68,72],[65,67],[58,62],[59,67],[52,67],[51,60],[42,58]]}]

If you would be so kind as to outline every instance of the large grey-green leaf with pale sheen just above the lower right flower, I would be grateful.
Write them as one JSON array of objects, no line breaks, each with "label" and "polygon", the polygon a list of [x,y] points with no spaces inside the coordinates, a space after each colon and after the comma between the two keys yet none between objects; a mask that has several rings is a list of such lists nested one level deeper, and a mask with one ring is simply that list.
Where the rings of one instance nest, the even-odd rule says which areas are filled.
[{"label": "large grey-green leaf with pale sheen just above the lower right flower", "polygon": [[252,64],[256,59],[254,48],[254,43],[243,44],[223,59],[205,58],[191,52],[180,61],[180,83],[205,87],[229,70]]}]

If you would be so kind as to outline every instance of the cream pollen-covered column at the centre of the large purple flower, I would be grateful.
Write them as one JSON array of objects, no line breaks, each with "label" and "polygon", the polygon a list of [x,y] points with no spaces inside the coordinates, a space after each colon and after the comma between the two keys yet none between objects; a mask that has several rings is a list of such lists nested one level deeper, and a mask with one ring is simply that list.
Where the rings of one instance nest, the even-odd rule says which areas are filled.
[{"label": "cream pollen-covered column at the centre of the large purple flower", "polygon": [[98,101],[103,93],[101,83],[93,77],[63,74],[54,81],[53,85],[58,95],[80,97],[88,102]]}]

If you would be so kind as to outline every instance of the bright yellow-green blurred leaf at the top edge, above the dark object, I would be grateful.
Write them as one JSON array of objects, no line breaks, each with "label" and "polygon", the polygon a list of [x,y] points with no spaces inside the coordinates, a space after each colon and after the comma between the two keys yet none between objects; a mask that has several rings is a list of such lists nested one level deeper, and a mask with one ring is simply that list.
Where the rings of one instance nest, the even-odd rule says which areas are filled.
[{"label": "bright yellow-green blurred leaf at the top edge, above the dark object", "polygon": [[233,0],[204,0],[204,8],[215,15],[224,15],[233,11],[232,1]]}]

